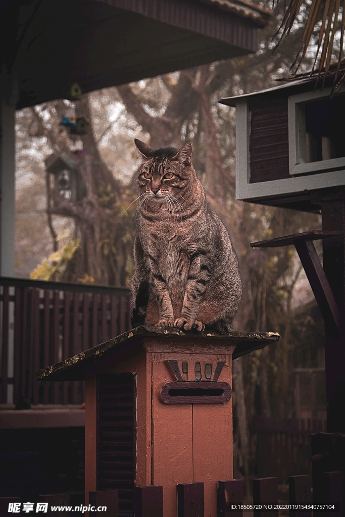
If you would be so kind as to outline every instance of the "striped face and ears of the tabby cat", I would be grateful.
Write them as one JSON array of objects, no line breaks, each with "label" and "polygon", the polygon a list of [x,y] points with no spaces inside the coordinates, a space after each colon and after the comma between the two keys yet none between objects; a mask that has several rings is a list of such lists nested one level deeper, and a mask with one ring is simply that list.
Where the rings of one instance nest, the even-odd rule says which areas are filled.
[{"label": "striped face and ears of the tabby cat", "polygon": [[171,147],[154,150],[139,140],[135,143],[143,158],[139,194],[143,197],[146,194],[151,203],[163,202],[169,207],[169,200],[181,199],[192,181],[191,144],[187,143],[177,151]]}]

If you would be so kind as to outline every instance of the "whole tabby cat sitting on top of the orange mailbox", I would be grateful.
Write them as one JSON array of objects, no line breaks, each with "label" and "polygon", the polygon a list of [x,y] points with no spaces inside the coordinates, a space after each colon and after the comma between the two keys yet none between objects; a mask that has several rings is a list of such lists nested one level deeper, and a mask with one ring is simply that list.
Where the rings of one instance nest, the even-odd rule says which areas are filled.
[{"label": "whole tabby cat sitting on top of the orange mailbox", "polygon": [[242,283],[226,227],[207,207],[191,143],[179,150],[134,143],[142,164],[132,325],[227,333]]}]

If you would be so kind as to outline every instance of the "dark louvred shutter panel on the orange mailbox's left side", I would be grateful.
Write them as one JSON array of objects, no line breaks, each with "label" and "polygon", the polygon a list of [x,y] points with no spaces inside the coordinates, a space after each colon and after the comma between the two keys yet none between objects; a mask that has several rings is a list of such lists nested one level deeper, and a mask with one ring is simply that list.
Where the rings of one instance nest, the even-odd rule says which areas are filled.
[{"label": "dark louvred shutter panel on the orange mailbox's left side", "polygon": [[119,515],[133,512],[136,375],[97,375],[97,490],[118,489]]}]

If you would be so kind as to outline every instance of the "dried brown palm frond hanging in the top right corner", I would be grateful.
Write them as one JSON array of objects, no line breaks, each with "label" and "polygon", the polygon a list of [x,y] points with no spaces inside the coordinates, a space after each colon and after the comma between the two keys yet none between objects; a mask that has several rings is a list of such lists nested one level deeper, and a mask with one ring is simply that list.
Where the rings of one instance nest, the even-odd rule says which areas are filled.
[{"label": "dried brown palm frond hanging in the top right corner", "polygon": [[[276,37],[280,33],[277,46],[279,45],[282,38],[284,36],[288,36],[291,32],[293,23],[298,16],[302,4],[303,0],[290,0],[290,4],[288,5],[288,8],[283,16],[280,27],[278,28],[278,31],[275,34]],[[292,69],[297,64],[297,67],[294,71],[294,75],[296,76],[296,72],[301,66],[302,61],[306,55],[313,32],[316,29],[319,20],[321,19],[319,38],[317,41],[317,50],[314,56],[312,70],[309,73],[309,75],[311,76],[315,72],[318,73],[318,80],[322,78],[322,86],[324,85],[325,79],[331,67],[334,39],[338,31],[339,16],[341,16],[340,48],[338,62],[336,64],[336,70],[334,73],[334,92],[339,89],[339,87],[342,85],[345,79],[345,71],[343,70],[343,67],[341,67],[345,30],[345,0],[311,0],[308,19],[304,27],[301,44],[299,45],[297,55],[290,68]],[[321,55],[319,63],[318,66],[316,66],[320,51]],[[340,75],[341,77],[339,77]]]}]

